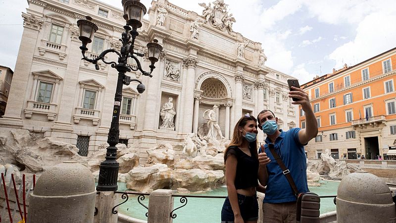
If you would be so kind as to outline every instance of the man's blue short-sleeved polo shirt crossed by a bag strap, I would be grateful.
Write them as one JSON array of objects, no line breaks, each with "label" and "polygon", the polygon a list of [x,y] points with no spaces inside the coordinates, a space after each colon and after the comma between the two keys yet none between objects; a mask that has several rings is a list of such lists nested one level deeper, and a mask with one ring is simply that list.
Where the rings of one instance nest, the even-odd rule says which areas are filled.
[{"label": "man's blue short-sleeved polo shirt crossed by a bag strap", "polygon": [[[298,132],[300,128],[292,128],[289,131],[282,131],[275,140],[275,151],[281,157],[282,162],[290,170],[293,180],[296,183],[299,193],[308,192],[308,185],[306,179],[306,156],[303,145],[299,142]],[[268,149],[268,143],[271,143],[267,137],[265,139],[265,153],[270,158],[271,162],[267,164],[267,189],[265,191],[264,203],[284,203],[296,201],[296,196],[284,176],[281,167],[279,167],[271,151]],[[261,147],[258,151],[261,153]]]}]

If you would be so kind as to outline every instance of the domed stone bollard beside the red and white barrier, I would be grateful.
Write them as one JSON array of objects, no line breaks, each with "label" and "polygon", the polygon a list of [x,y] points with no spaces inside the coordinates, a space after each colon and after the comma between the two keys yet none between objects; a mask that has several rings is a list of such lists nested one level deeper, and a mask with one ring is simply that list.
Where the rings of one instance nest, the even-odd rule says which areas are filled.
[{"label": "domed stone bollard beside the red and white barrier", "polygon": [[27,223],[92,223],[95,212],[95,179],[75,162],[64,162],[45,171],[29,198]]}]

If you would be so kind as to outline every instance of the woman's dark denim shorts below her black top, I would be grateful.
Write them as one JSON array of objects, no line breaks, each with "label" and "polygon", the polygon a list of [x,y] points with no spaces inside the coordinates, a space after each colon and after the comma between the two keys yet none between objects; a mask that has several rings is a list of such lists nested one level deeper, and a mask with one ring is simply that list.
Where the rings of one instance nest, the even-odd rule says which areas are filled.
[{"label": "woman's dark denim shorts below her black top", "polygon": [[[258,203],[256,196],[238,195],[238,204],[241,216],[244,221],[256,221],[258,219]],[[224,201],[221,209],[221,223],[233,223],[234,212],[232,211],[231,203],[228,197]]]}]

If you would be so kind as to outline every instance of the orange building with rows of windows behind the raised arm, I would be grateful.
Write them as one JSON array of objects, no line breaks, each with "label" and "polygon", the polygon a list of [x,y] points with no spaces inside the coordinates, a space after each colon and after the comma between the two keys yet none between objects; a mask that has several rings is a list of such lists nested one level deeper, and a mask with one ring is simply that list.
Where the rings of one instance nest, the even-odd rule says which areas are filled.
[{"label": "orange building with rows of windows behind the raised arm", "polygon": [[[305,146],[308,158],[320,158],[326,149],[335,159],[386,159],[395,153],[395,82],[396,48],[302,84],[319,127]],[[301,107],[299,125],[305,127]]]}]

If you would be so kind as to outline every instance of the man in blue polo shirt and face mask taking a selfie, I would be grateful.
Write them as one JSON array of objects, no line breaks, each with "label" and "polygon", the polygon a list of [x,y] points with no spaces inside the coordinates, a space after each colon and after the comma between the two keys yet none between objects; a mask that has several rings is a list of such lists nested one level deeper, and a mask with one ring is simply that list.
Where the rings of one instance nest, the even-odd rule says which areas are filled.
[{"label": "man in blue polo shirt and face mask taking a selfie", "polygon": [[318,124],[312,111],[308,94],[303,90],[292,87],[290,98],[297,98],[294,105],[301,105],[305,111],[306,128],[292,128],[288,131],[278,129],[278,118],[272,111],[261,111],[257,116],[258,126],[267,134],[264,150],[260,148],[258,160],[258,180],[261,185],[267,186],[263,200],[263,216],[265,223],[291,223],[296,222],[296,195],[278,163],[268,149],[268,144],[273,144],[278,156],[290,170],[290,174],[297,186],[299,193],[308,192],[306,179],[306,157],[304,145],[316,137]]}]

